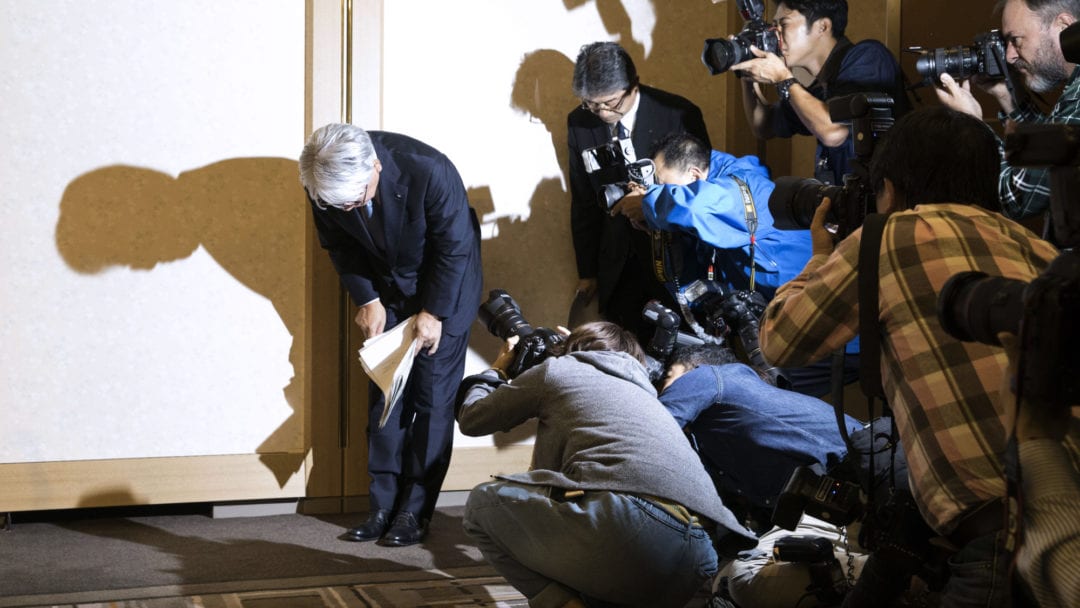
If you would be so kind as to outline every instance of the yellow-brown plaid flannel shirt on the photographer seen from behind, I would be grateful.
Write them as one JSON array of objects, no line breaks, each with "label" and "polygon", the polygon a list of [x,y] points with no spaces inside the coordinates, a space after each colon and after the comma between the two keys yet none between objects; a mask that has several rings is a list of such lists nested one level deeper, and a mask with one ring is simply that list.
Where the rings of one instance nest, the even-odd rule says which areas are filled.
[{"label": "yellow-brown plaid flannel shirt on the photographer seen from behind", "polygon": [[[818,361],[859,333],[862,230],[816,255],[781,286],[762,317],[760,344],[774,365]],[[1053,245],[999,214],[958,204],[892,214],[878,262],[881,376],[907,455],[913,494],[940,533],[1005,495],[1001,348],[961,342],[937,320],[937,294],[957,272],[1030,281]]]}]

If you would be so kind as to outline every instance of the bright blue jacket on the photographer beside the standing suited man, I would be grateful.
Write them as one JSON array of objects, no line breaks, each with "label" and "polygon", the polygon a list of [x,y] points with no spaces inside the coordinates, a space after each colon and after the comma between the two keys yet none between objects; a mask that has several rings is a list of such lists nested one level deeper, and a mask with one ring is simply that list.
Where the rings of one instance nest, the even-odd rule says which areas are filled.
[{"label": "bright blue jacket on the photographer beside the standing suited man", "polygon": [[681,241],[684,261],[674,269],[681,285],[704,279],[712,247],[717,252],[716,280],[734,289],[750,287],[751,235],[738,177],[746,184],[757,214],[754,266],[756,288],[771,298],[777,287],[794,279],[810,259],[809,230],[772,226],[769,195],[774,187],[757,157],[735,158],[713,150],[708,176],[687,186],[653,186],[644,199],[645,219],[654,230],[688,237]]}]

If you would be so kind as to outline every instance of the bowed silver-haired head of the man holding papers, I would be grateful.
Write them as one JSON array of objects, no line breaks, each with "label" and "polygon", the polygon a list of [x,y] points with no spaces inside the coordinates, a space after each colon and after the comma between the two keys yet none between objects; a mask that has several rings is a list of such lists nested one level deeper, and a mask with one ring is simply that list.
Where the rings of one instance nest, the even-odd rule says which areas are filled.
[{"label": "bowed silver-haired head of the man holding papers", "polygon": [[330,123],[316,130],[300,152],[300,184],[319,208],[359,201],[375,173],[375,146],[366,131]]}]

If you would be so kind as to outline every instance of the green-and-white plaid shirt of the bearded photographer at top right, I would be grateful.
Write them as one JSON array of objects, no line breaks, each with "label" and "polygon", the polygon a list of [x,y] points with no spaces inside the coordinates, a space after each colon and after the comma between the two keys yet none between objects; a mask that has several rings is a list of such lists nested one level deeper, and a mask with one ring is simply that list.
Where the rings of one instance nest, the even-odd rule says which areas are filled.
[{"label": "green-and-white plaid shirt of the bearded photographer at top right", "polygon": [[[1013,111],[999,114],[1002,121],[1031,123],[1080,123],[1080,67],[1072,70],[1062,96],[1049,114],[1040,112],[1030,103]],[[1011,166],[1005,162],[1004,143],[998,140],[1001,152],[1001,175],[998,178],[998,197],[1007,216],[1023,219],[1050,208],[1050,171]]]}]

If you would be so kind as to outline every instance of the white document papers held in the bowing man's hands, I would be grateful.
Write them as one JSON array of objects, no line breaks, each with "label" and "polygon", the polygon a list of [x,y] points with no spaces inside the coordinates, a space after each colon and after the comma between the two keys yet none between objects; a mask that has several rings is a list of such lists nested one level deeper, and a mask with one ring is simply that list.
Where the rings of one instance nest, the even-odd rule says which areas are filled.
[{"label": "white document papers held in the bowing man's hands", "polygon": [[409,371],[413,370],[413,360],[416,357],[416,315],[409,316],[374,338],[364,341],[360,349],[360,364],[368,378],[382,390],[382,415],[379,416],[379,428],[387,424],[390,413],[397,406]]}]

